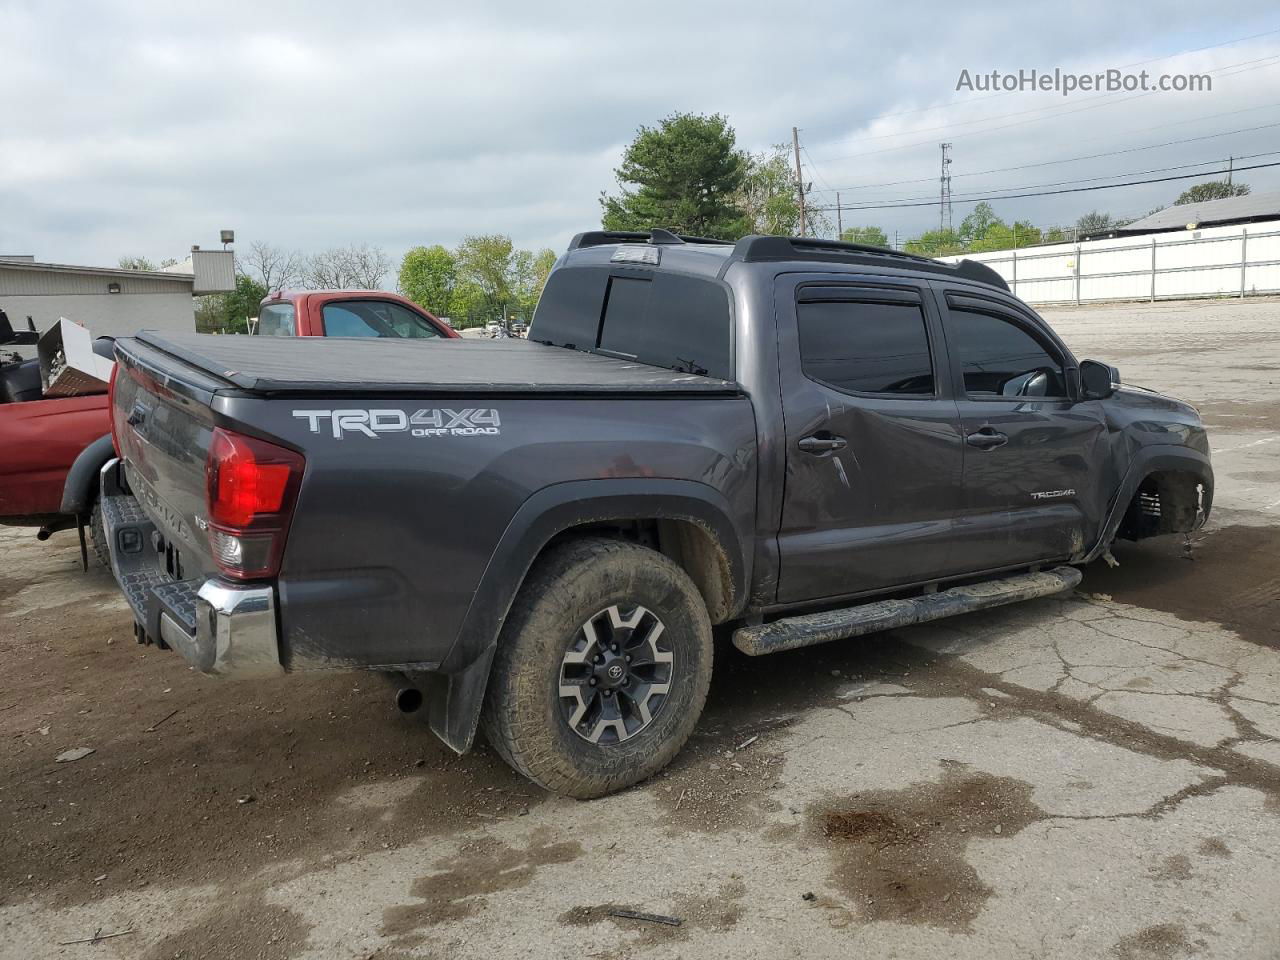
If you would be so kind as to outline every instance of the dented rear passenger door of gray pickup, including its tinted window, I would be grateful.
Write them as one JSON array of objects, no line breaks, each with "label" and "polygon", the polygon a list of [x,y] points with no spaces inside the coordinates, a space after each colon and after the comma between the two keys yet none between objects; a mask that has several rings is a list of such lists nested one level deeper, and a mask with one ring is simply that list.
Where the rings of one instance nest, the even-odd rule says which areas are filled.
[{"label": "dented rear passenger door of gray pickup, including its tinted window", "polygon": [[786,489],[778,602],[955,570],[963,439],[924,283],[778,278]]}]

